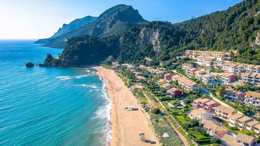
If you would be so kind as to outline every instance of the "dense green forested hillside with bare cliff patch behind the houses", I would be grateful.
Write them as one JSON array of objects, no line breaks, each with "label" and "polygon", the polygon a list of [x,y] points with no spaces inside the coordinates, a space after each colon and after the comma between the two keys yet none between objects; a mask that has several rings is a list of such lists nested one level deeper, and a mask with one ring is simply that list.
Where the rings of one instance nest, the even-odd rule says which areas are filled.
[{"label": "dense green forested hillside with bare cliff patch behind the houses", "polygon": [[[104,45],[102,49],[91,53],[95,59],[90,56],[86,57],[87,52],[82,53],[86,48],[87,51],[96,49],[91,43],[82,45],[84,42],[89,42],[89,38],[92,37],[76,36],[68,39],[60,58],[54,62],[59,62],[60,64],[56,64],[61,66],[93,64],[103,61],[104,57],[113,55],[121,63],[142,63],[143,58],[147,56],[155,59],[154,65],[159,65],[161,60],[169,60],[165,67],[174,68],[172,63],[176,62],[176,56],[190,49],[233,50],[236,52],[236,56],[232,58],[233,61],[259,64],[259,14],[260,1],[247,0],[227,10],[198,18],[192,17],[181,23],[152,21],[141,26],[134,26],[121,34],[112,33],[105,38],[95,38],[96,43],[102,42],[101,44]],[[95,21],[97,20],[98,18]],[[84,38],[87,39],[84,40]],[[89,45],[85,46],[87,44]],[[106,50],[109,52],[103,54],[102,51]]]}]

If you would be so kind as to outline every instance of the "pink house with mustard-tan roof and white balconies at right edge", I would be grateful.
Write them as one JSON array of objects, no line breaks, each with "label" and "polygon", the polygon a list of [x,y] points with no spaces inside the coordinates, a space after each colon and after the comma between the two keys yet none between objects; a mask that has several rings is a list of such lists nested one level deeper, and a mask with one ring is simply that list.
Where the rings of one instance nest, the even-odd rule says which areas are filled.
[{"label": "pink house with mustard-tan roof and white balconies at right edge", "polygon": [[259,107],[260,106],[260,93],[253,92],[253,91],[246,92],[245,103]]}]

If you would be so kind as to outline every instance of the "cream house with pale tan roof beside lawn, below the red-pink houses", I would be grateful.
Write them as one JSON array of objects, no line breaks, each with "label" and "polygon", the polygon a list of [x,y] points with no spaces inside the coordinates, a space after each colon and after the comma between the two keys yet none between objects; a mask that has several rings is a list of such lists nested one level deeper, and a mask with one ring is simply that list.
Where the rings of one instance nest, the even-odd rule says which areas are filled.
[{"label": "cream house with pale tan roof beside lawn, below the red-pink houses", "polygon": [[201,121],[211,121],[212,120],[212,113],[206,111],[203,108],[193,109],[188,112],[188,115],[191,119],[197,118],[197,120]]}]

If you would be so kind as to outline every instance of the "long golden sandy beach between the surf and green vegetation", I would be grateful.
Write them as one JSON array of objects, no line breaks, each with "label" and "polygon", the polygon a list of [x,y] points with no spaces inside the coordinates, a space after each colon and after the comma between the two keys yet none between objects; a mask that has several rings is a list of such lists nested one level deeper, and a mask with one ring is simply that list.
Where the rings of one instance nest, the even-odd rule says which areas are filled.
[{"label": "long golden sandy beach between the surf and green vegetation", "polygon": [[[98,70],[97,74],[105,79],[108,87],[108,94],[112,101],[111,120],[112,141],[111,146],[129,145],[151,145],[140,141],[139,133],[145,133],[145,139],[156,142],[152,145],[159,145],[149,126],[147,116],[141,111],[131,91],[124,85],[124,82],[113,70],[103,67],[93,67]],[[121,88],[121,90],[120,90]],[[135,105],[138,110],[126,111],[124,107]]]}]

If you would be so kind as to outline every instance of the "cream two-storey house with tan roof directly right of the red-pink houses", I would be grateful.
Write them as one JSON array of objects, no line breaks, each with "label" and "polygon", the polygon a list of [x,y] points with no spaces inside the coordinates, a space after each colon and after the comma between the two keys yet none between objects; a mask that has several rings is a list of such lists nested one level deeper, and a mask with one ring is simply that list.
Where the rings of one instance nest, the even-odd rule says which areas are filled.
[{"label": "cream two-storey house with tan roof directly right of the red-pink houses", "polygon": [[229,122],[229,118],[231,115],[234,115],[237,113],[237,110],[229,108],[229,107],[225,107],[224,105],[219,105],[218,107],[216,107],[215,110],[215,115],[225,121]]}]

